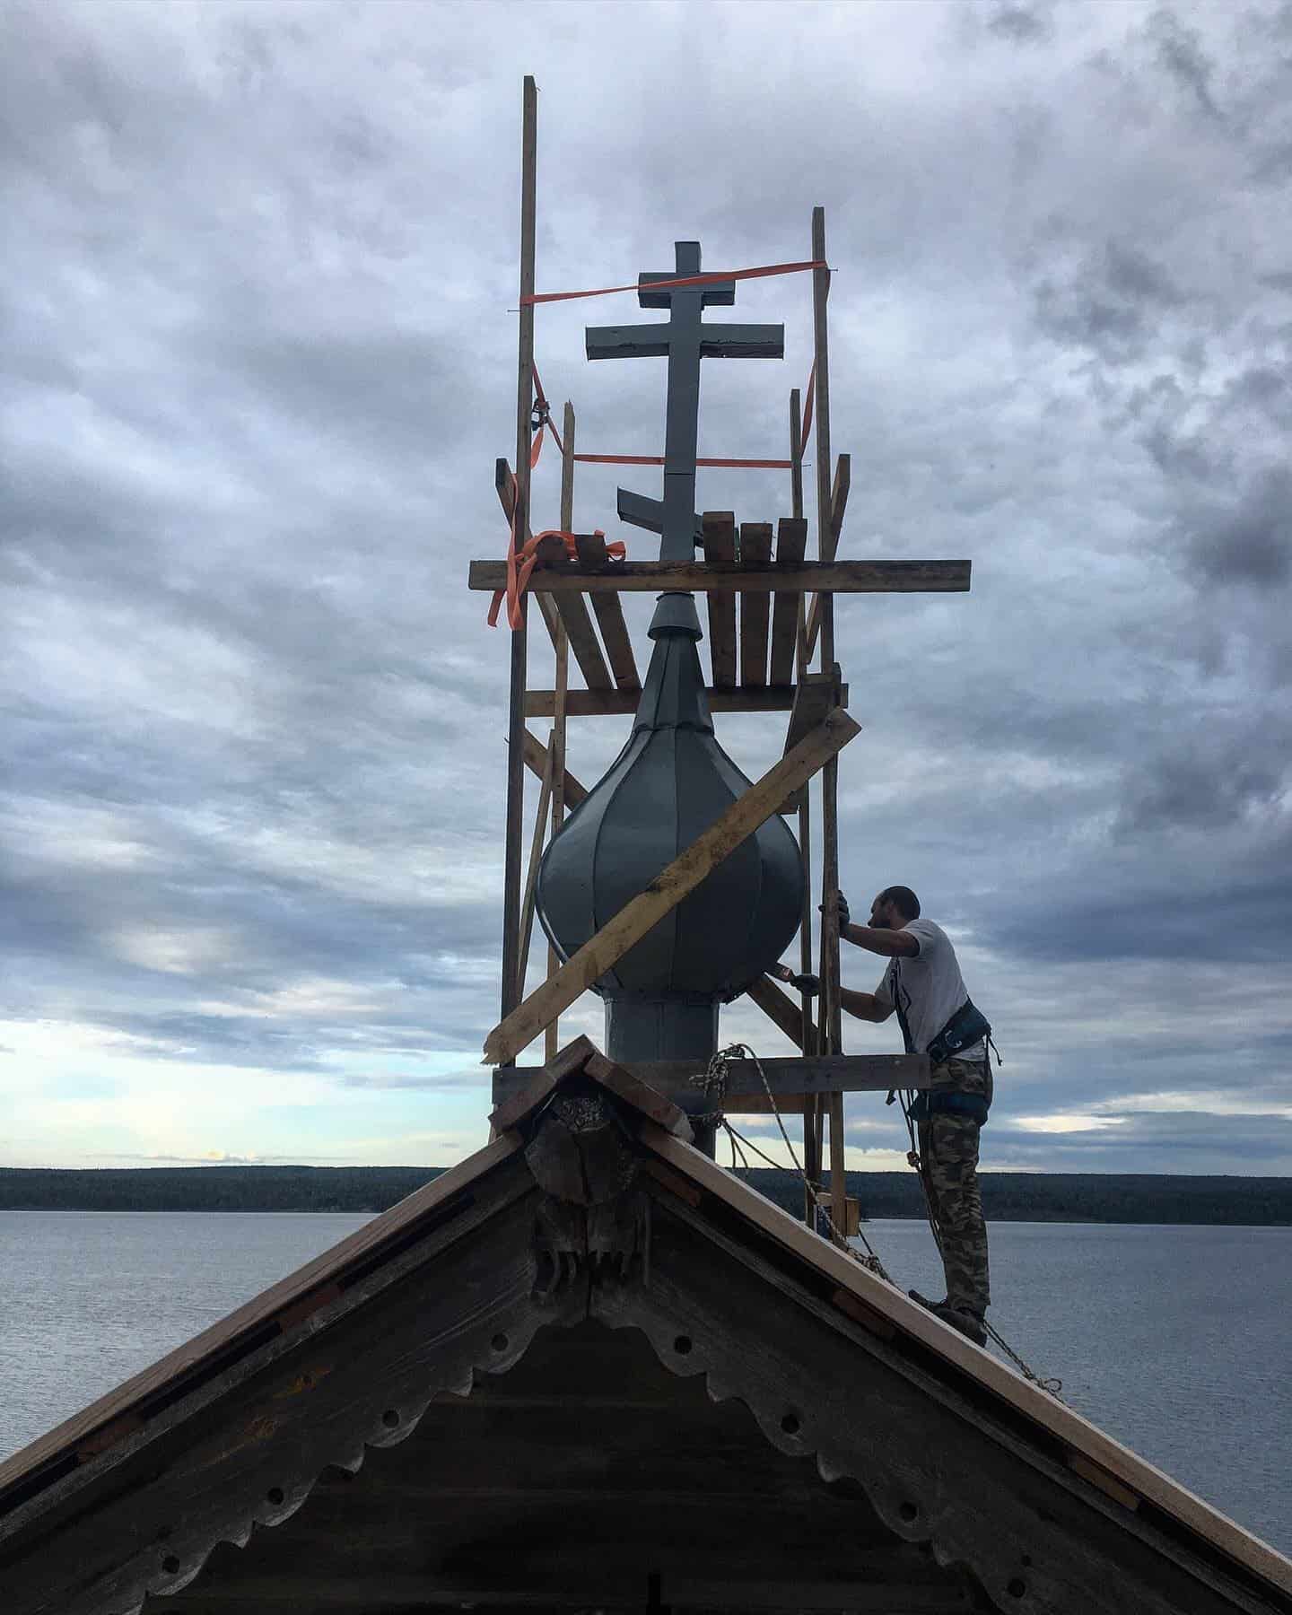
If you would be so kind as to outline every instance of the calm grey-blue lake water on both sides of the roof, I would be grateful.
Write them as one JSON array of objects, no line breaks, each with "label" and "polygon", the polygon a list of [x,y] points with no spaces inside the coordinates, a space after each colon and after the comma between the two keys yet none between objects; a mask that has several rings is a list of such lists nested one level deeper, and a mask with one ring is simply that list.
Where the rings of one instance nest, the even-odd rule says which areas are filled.
[{"label": "calm grey-blue lake water on both sides of the roof", "polygon": [[[0,1457],[367,1216],[0,1211]],[[866,1235],[942,1295],[922,1223]],[[992,1321],[1064,1400],[1292,1554],[1292,1229],[996,1223]]]}]

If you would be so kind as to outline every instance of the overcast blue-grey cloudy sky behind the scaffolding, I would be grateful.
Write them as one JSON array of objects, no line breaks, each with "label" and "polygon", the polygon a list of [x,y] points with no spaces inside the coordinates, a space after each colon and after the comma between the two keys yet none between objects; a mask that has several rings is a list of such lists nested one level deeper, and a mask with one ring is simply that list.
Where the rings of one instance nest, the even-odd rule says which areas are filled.
[{"label": "overcast blue-grey cloudy sky behind the scaffolding", "polygon": [[[483,1142],[507,631],[465,585],[505,547],[523,73],[541,289],[806,258],[827,208],[843,554],[974,560],[838,599],[843,882],[958,942],[984,1164],[1292,1169],[1292,6],[1227,0],[0,0],[0,1161]],[[706,367],[701,452],[783,455],[808,279],[735,317],[785,362]],[[539,310],[581,449],[661,451],[664,365],[583,359],[648,318]],[[620,536],[620,480],[659,491],[581,467],[578,528]],[[547,452],[536,526],[557,488]],[[775,520],[788,476],[699,504]],[[572,725],[572,770],[625,733]],[[783,719],[719,736],[757,775]],[[724,1037],[787,1051],[748,1001]],[[880,1097],[848,1119],[901,1163]]]}]

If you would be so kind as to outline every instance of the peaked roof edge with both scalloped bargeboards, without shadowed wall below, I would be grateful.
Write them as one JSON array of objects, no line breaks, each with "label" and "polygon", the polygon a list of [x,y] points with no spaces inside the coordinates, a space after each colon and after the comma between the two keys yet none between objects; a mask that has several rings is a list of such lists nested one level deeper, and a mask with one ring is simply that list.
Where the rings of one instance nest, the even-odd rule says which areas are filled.
[{"label": "peaked roof edge with both scalloped bargeboards, without shadowed wall below", "polygon": [[541,1328],[591,1319],[640,1329],[770,1445],[856,1481],[993,1609],[1292,1615],[1287,1558],[694,1150],[682,1111],[591,1040],[497,1122],[8,1460],[6,1610],[129,1615],[182,1594],[218,1542],[286,1521],[325,1470],[359,1470],[433,1400],[505,1374]]}]

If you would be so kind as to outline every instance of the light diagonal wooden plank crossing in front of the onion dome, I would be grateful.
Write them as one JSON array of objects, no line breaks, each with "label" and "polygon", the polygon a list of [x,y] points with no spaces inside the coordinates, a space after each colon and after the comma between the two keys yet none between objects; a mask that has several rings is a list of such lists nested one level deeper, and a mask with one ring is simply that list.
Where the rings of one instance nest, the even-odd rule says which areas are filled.
[{"label": "light diagonal wooden plank crossing in front of the onion dome", "polygon": [[531,1043],[543,1027],[604,975],[652,930],[665,914],[704,880],[728,853],[770,819],[787,791],[811,778],[827,759],[861,733],[861,725],[841,709],[830,712],[788,757],[782,757],[757,783],[719,814],[691,845],[627,903],[614,919],[562,964],[556,975],[518,1005],[484,1040],[484,1063],[501,1066]]}]

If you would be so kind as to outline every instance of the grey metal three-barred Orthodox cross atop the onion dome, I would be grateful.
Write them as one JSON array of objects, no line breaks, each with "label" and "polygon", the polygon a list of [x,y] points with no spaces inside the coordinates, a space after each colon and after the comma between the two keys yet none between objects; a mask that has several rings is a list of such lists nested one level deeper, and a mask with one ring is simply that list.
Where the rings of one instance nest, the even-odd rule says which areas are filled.
[{"label": "grey metal three-barred Orthodox cross atop the onion dome", "polygon": [[736,300],[735,281],[651,291],[652,281],[699,275],[699,242],[675,242],[677,268],[638,276],[643,308],[667,308],[667,325],[588,326],[588,359],[669,360],[669,407],[664,430],[664,499],[619,491],[619,514],[635,526],[661,535],[661,560],[691,560],[696,517],[696,438],[699,423],[701,359],[783,359],[783,325],[704,325],[709,304]]}]

